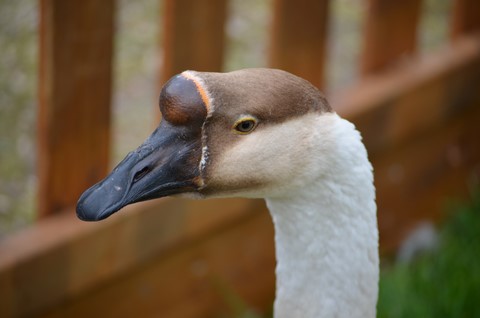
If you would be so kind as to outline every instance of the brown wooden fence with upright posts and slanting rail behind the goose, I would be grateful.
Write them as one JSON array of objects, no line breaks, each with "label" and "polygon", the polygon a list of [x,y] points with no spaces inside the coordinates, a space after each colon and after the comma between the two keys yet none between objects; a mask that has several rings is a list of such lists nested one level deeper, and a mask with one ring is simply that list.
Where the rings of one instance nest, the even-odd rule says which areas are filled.
[{"label": "brown wooden fence with upright posts and slanting rail behind the goose", "polygon": [[[329,99],[363,133],[389,252],[480,175],[480,2],[454,1],[450,40],[427,56],[414,54],[420,0],[367,3],[361,79]],[[160,81],[220,71],[227,0],[163,5]],[[322,87],[328,9],[274,0],[270,66]],[[114,0],[40,1],[40,219],[0,242],[0,316],[228,316],[232,294],[266,310],[275,260],[262,201],[162,199],[77,220],[78,196],[108,169],[114,12]]]}]

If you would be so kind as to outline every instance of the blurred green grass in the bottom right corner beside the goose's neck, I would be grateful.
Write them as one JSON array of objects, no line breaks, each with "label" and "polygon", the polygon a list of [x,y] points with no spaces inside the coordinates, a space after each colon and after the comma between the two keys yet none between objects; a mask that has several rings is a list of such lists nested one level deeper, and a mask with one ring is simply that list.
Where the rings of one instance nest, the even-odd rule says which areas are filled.
[{"label": "blurred green grass in the bottom right corner beside the goose's neck", "polygon": [[378,317],[480,317],[480,194],[452,210],[440,248],[382,273]]}]

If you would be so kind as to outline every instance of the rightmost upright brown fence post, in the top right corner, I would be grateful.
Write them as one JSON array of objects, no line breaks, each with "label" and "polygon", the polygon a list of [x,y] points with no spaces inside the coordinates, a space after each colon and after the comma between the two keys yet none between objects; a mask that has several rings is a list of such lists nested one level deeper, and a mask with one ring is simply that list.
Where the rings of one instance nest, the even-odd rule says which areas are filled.
[{"label": "rightmost upright brown fence post, in the top right corner", "polygon": [[455,40],[462,34],[478,30],[480,30],[480,2],[478,0],[456,0],[453,5],[451,39]]}]

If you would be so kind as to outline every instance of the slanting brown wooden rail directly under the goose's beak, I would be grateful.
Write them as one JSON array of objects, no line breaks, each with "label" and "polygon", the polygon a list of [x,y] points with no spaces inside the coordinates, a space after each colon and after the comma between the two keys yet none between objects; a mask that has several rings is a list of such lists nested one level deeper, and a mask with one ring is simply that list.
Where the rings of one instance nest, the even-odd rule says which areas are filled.
[{"label": "slanting brown wooden rail directly under the goose's beak", "polygon": [[100,223],[51,216],[0,241],[0,316],[36,315],[260,210],[259,201],[162,199]]}]

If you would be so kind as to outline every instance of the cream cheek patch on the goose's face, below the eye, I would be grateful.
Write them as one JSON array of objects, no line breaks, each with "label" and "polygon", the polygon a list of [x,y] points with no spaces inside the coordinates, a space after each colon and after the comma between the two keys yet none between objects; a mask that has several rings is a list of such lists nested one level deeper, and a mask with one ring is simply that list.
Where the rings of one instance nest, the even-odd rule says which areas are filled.
[{"label": "cream cheek patch on the goose's face, below the eye", "polygon": [[[283,123],[259,126],[251,134],[240,136],[241,141],[230,148],[225,145],[223,155],[215,160],[210,171],[212,181],[231,185],[254,179],[261,189],[269,192],[303,180],[312,166],[312,158],[305,153],[314,146],[316,129],[312,126],[318,125],[322,116],[306,114]],[[255,191],[259,193],[259,189]],[[264,191],[259,194],[267,195]]]}]

